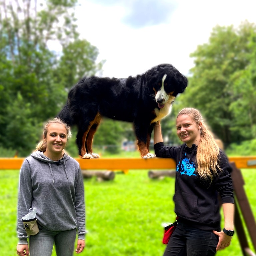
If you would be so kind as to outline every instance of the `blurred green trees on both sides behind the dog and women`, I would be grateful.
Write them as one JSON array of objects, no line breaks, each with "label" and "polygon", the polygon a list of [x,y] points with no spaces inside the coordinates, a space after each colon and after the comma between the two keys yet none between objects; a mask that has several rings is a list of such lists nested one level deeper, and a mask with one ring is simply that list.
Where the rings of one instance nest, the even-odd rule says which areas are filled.
[{"label": "blurred green trees on both sides behind the dog and women", "polygon": [[[97,47],[79,37],[76,3],[48,0],[36,8],[36,0],[24,0],[22,6],[18,1],[0,2],[1,157],[29,155],[44,123],[65,105],[70,88],[84,76],[100,74],[104,60],[97,62]],[[52,42],[59,44],[59,51],[50,49]],[[255,55],[255,24],[214,27],[208,43],[191,53],[195,66],[187,74],[188,87],[162,121],[166,143],[180,143],[176,115],[183,107],[195,107],[227,153],[255,155]],[[76,128],[72,131],[75,137]],[[78,156],[74,137],[68,152]],[[135,143],[132,124],[104,119],[94,145],[100,152],[117,154],[124,140]]]}]

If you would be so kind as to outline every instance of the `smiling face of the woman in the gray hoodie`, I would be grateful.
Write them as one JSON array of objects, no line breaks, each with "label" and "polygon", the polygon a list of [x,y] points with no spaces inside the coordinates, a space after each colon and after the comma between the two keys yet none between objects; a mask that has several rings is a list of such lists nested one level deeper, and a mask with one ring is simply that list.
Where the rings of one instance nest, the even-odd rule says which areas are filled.
[{"label": "smiling face of the woman in the gray hoodie", "polygon": [[44,137],[47,147],[44,154],[56,161],[62,157],[62,150],[67,143],[67,129],[65,125],[51,123],[48,126],[46,137]]}]

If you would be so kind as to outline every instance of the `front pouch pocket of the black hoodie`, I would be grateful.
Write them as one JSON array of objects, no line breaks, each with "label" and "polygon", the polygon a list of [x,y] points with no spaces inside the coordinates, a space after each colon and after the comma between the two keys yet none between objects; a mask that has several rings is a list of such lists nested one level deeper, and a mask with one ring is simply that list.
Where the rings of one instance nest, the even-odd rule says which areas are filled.
[{"label": "front pouch pocket of the black hoodie", "polygon": [[177,191],[173,200],[175,202],[175,213],[177,216],[191,220],[198,220],[201,213],[198,209],[197,196]]}]

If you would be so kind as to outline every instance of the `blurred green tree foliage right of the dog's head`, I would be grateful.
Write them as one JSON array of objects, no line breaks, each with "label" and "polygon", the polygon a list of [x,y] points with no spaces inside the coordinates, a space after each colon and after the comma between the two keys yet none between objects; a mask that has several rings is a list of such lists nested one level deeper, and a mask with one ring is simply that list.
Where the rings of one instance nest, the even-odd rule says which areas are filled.
[{"label": "blurred green tree foliage right of the dog's head", "polygon": [[191,54],[188,87],[179,108],[200,110],[225,145],[255,138],[256,26],[216,26],[209,42]]}]

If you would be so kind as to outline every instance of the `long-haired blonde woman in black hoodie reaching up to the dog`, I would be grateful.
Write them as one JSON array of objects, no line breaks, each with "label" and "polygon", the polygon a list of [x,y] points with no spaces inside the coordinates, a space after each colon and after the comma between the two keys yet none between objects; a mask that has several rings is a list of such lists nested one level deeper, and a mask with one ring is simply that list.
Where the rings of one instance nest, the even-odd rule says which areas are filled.
[{"label": "long-haired blonde woman in black hoodie reaching up to the dog", "polygon": [[[234,234],[232,169],[198,110],[181,110],[176,127],[184,142],[179,147],[164,145],[160,121],[154,127],[156,156],[173,158],[177,165],[173,200],[179,219],[164,256],[212,256],[229,246]],[[223,229],[218,195],[224,213]]]}]

